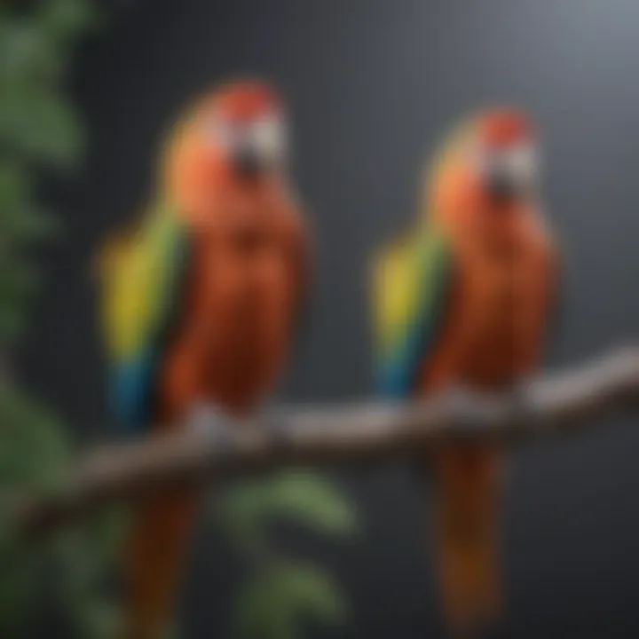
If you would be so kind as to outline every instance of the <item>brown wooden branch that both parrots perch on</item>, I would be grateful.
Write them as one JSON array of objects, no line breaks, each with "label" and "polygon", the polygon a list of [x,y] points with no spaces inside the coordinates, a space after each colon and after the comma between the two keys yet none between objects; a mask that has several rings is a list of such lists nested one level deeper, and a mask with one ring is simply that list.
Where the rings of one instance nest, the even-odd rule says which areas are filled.
[{"label": "brown wooden branch that both parrots perch on", "polygon": [[[54,495],[23,501],[24,533],[43,533],[117,500],[291,465],[409,460],[450,438],[521,438],[574,430],[639,398],[639,347],[541,377],[519,391],[462,390],[406,405],[287,408],[89,454]],[[217,421],[216,421],[217,422]]]}]

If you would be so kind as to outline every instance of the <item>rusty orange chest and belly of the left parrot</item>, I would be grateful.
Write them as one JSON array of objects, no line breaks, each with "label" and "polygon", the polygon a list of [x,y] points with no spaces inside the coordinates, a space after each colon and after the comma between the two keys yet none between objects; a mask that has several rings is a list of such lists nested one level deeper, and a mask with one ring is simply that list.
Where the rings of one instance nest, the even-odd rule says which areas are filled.
[{"label": "rusty orange chest and belly of the left parrot", "polygon": [[180,404],[241,408],[270,390],[292,332],[294,245],[278,225],[253,223],[228,225],[198,240],[173,354],[174,370],[182,372],[169,375]]}]

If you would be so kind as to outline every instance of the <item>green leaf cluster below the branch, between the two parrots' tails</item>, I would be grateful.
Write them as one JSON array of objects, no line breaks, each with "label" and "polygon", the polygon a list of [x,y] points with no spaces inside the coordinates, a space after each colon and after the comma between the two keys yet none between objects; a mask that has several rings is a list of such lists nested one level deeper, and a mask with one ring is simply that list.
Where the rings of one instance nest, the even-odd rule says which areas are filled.
[{"label": "green leaf cluster below the branch, between the two parrots' tails", "polygon": [[269,534],[282,520],[333,538],[357,533],[356,509],[335,485],[311,472],[290,471],[234,485],[219,505],[232,542],[249,564],[234,609],[235,639],[298,639],[307,622],[343,622],[346,598],[335,579],[317,565],[282,556]]}]

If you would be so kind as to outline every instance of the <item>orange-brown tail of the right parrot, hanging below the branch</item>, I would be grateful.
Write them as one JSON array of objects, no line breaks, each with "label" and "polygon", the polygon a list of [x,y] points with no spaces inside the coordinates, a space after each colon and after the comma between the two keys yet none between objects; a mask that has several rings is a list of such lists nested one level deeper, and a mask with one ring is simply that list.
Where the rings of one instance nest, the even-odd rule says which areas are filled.
[{"label": "orange-brown tail of the right parrot, hanging below the branch", "polygon": [[436,454],[441,598],[454,636],[475,636],[501,619],[501,453],[448,446]]}]

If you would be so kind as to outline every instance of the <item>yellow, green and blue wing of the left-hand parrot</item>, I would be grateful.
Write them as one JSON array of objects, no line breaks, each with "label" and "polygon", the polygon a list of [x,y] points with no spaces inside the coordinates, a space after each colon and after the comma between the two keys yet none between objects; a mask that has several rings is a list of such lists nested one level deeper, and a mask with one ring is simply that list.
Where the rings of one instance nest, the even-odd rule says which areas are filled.
[{"label": "yellow, green and blue wing of the left-hand parrot", "polygon": [[111,400],[118,419],[136,430],[154,417],[155,381],[182,306],[189,255],[185,228],[161,205],[102,256]]}]

